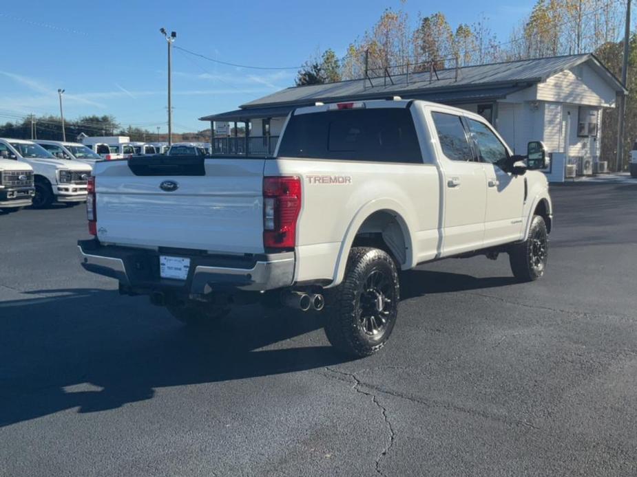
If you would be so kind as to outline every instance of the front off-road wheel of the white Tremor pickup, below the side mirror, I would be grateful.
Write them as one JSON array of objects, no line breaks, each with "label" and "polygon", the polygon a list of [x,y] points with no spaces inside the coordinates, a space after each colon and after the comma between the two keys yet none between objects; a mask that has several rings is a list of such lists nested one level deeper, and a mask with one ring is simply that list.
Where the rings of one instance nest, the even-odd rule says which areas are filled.
[{"label": "front off-road wheel of the white Tremor pickup, below the side mirror", "polygon": [[532,282],[543,276],[548,258],[546,223],[534,215],[528,239],[512,245],[509,250],[511,271],[519,282]]}]

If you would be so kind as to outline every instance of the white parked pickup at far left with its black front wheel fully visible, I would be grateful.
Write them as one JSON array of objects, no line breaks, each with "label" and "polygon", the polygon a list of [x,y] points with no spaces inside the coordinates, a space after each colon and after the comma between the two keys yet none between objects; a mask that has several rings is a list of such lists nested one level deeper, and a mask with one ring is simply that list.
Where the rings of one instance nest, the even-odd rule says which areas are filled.
[{"label": "white parked pickup at far left with its black front wheel fully visible", "polygon": [[86,184],[92,170],[88,164],[56,159],[32,141],[1,137],[0,158],[31,166],[35,185],[34,208],[47,208],[56,201],[72,205],[86,200]]}]

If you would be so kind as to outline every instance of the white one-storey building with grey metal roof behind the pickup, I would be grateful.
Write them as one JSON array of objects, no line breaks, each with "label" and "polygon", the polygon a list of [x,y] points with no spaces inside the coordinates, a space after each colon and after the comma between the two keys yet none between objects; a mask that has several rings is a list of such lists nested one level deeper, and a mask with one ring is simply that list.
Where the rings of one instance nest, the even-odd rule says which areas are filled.
[{"label": "white one-storey building with grey metal roof behind the pickup", "polygon": [[216,137],[216,152],[260,155],[273,153],[286,115],[297,107],[390,96],[435,101],[483,115],[516,153],[543,141],[555,159],[547,173],[563,180],[565,164],[581,174],[603,170],[597,166],[609,159],[599,157],[603,109],[625,93],[593,54],[581,54],[290,87],[200,120],[211,122],[211,130],[216,121],[243,122],[249,137]]}]

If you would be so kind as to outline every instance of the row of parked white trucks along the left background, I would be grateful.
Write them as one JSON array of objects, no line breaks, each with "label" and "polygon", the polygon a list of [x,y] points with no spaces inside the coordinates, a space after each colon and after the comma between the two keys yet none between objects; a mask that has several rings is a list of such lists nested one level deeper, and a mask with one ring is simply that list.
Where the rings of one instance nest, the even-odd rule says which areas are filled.
[{"label": "row of parked white trucks along the left background", "polygon": [[118,142],[84,138],[80,142],[0,138],[0,210],[25,206],[72,206],[86,201],[87,181],[97,161],[141,155],[207,155],[209,144]]}]

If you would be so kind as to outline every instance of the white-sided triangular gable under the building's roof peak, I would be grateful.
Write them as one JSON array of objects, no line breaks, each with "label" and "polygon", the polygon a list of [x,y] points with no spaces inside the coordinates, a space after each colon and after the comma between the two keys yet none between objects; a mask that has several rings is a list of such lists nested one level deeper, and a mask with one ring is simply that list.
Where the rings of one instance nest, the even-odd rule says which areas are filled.
[{"label": "white-sided triangular gable under the building's roof peak", "polygon": [[537,98],[543,101],[568,102],[589,106],[614,107],[616,93],[588,65],[578,65],[537,85]]}]

